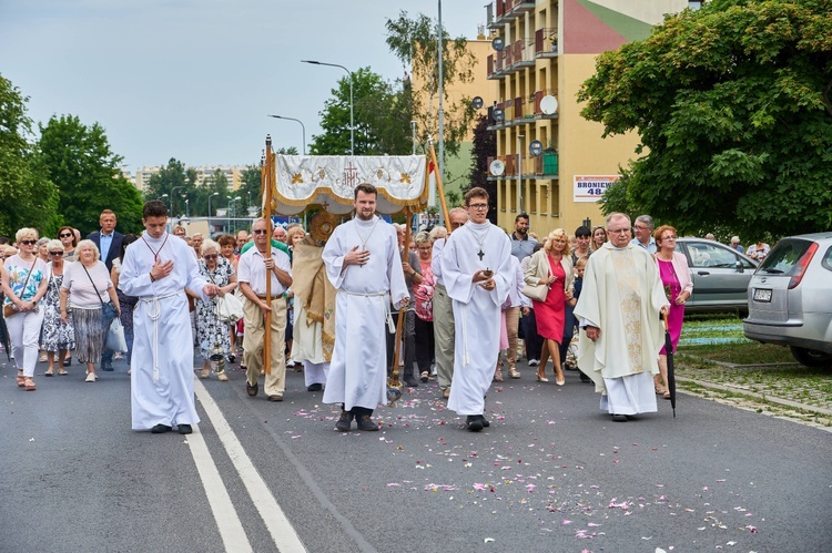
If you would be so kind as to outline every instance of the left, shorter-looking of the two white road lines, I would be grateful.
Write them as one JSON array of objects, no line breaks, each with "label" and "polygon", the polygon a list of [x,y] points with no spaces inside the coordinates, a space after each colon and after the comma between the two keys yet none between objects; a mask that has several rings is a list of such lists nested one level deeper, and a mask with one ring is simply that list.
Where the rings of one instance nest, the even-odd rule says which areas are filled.
[{"label": "left, shorter-looking of the two white road lines", "polygon": [[214,520],[217,530],[220,530],[225,551],[239,551],[240,553],[253,551],[199,426],[195,426],[193,433],[187,437],[187,443],[191,446],[191,454],[196,462],[196,470],[202,479],[202,487],[205,489],[211,511],[214,513]]}]

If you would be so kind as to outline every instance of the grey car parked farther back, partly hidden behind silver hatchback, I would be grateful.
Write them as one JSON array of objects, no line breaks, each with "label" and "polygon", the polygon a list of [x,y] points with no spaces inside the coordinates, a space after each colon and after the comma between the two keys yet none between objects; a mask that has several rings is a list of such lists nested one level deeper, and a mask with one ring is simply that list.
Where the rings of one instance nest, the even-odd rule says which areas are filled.
[{"label": "grey car parked farther back, partly hidden behind silver hatchback", "polygon": [[684,311],[748,309],[748,283],[757,262],[719,242],[680,237],[676,250],[684,254],[693,276],[693,294]]}]

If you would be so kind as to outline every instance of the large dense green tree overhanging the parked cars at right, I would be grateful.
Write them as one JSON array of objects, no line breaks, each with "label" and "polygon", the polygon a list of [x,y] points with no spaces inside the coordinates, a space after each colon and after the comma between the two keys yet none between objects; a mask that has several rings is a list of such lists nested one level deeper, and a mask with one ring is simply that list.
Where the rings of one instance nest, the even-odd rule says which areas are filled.
[{"label": "large dense green tree overhanging the parked cars at right", "polygon": [[714,0],[596,69],[581,114],[641,139],[622,171],[632,212],[749,239],[832,226],[828,0]]}]

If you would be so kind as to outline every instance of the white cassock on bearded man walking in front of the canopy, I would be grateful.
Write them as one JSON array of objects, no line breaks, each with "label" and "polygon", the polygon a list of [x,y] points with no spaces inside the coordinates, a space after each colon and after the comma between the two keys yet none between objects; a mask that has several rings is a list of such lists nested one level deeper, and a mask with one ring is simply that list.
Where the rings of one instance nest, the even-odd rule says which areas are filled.
[{"label": "white cassock on bearded man walking in front of the canopy", "polygon": [[[355,246],[368,249],[365,265],[349,265],[344,256]],[[335,348],[324,391],[324,403],[375,409],[387,402],[386,336],[388,293],[396,308],[410,296],[402,270],[396,229],[381,218],[352,219],[338,225],[324,247],[326,276],[338,290],[335,306]]]}]

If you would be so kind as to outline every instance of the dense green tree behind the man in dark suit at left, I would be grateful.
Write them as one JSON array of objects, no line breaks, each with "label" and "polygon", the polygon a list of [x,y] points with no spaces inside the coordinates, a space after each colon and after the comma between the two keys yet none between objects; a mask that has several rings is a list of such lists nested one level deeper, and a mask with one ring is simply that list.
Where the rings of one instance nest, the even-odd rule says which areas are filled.
[{"label": "dense green tree behind the man in dark suit at left", "polygon": [[99,228],[103,209],[112,209],[121,232],[140,232],[141,194],[122,175],[122,157],[110,150],[104,130],[73,115],[53,115],[39,126],[41,163],[58,187],[64,224],[85,234]]}]

